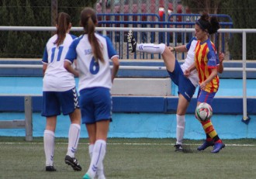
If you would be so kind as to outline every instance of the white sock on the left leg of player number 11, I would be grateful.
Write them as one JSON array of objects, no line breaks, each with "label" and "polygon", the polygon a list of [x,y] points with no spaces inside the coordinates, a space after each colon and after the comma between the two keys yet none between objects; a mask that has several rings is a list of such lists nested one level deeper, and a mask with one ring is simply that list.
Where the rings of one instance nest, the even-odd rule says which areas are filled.
[{"label": "white sock on the left leg of player number 11", "polygon": [[54,165],[54,132],[44,130],[43,133],[43,146],[46,158],[46,166]]}]

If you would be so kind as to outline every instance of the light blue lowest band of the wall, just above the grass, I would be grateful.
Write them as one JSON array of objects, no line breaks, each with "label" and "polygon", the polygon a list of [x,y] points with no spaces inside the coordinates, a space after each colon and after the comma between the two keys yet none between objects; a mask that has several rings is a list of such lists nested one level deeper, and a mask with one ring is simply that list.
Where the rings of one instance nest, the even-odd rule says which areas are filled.
[{"label": "light blue lowest band of the wall, just above the grass", "polygon": [[[249,124],[241,122],[242,115],[213,115],[213,125],[222,139],[256,138],[256,115]],[[0,120],[24,119],[23,112],[2,112]],[[163,113],[113,113],[109,137],[124,138],[175,138],[176,115]],[[43,136],[46,120],[40,113],[33,113],[33,136]],[[67,137],[70,121],[67,116],[57,119],[55,136]],[[1,136],[25,136],[25,129],[0,129]],[[81,126],[81,137],[88,137]],[[185,139],[205,139],[202,126],[194,115],[186,115]]]}]

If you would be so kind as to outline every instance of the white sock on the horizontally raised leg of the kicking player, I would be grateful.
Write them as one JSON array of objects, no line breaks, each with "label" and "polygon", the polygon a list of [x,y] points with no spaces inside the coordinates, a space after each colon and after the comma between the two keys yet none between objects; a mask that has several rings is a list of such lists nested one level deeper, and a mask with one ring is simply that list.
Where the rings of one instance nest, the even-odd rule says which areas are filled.
[{"label": "white sock on the horizontally raised leg of the kicking player", "polygon": [[139,52],[146,53],[164,53],[165,44],[154,44],[154,43],[137,43],[136,50]]}]

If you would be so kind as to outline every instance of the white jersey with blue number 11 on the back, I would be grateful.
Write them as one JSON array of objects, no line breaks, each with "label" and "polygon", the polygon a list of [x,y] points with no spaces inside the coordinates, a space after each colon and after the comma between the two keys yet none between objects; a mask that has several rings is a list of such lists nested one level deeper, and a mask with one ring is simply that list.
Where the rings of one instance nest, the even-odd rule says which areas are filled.
[{"label": "white jersey with blue number 11 on the back", "polygon": [[74,75],[64,68],[67,50],[74,38],[75,36],[67,33],[60,46],[54,44],[57,35],[48,40],[42,60],[43,64],[47,64],[47,70],[43,77],[43,91],[67,91],[74,88]]}]

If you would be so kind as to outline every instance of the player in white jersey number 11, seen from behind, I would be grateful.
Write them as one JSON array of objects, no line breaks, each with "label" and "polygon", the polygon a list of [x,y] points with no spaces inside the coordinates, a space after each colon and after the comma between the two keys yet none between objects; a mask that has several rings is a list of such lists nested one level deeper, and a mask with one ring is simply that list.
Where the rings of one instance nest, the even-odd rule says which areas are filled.
[{"label": "player in white jersey number 11, seen from behind", "polygon": [[81,170],[74,157],[78,148],[81,131],[81,112],[78,106],[78,93],[75,89],[74,75],[64,68],[64,58],[68,47],[76,36],[69,34],[71,17],[64,12],[57,15],[57,33],[48,40],[43,53],[43,109],[47,118],[43,133],[46,170],[55,171],[54,167],[54,133],[57,115],[69,115],[71,126],[68,133],[68,146],[65,163],[74,170]]}]

